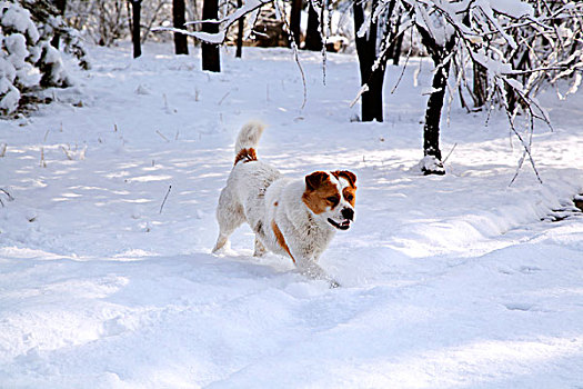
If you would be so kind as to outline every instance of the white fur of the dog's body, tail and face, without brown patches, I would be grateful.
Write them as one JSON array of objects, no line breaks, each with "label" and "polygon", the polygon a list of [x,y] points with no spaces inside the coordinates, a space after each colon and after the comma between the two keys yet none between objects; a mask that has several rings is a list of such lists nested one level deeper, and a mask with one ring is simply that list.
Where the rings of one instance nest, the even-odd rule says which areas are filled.
[{"label": "white fur of the dog's body, tail and face, without brown patches", "polygon": [[[239,132],[235,152],[244,148],[255,148],[264,126],[250,122]],[[330,174],[340,193],[349,182],[336,180]],[[311,278],[331,280],[316,265],[336,229],[328,221],[331,218],[342,221],[343,207],[352,207],[341,196],[341,203],[334,209],[316,215],[302,201],[305,180],[283,178],[273,167],[262,161],[239,162],[233,167],[227,186],[221,191],[217,207],[220,232],[213,252],[229,243],[229,236],[244,221],[255,232],[255,256],[265,249],[289,257],[278,242],[272,228],[273,221],[280,229],[296,267]]]}]

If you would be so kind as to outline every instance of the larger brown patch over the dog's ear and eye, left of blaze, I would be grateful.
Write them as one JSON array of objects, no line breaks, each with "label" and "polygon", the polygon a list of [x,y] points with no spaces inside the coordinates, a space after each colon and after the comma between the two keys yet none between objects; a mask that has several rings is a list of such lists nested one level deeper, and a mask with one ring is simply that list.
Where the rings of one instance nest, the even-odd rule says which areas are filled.
[{"label": "larger brown patch over the dog's ear and eye, left of blaze", "polygon": [[305,191],[302,201],[314,213],[322,213],[328,207],[334,208],[340,202],[338,187],[330,181],[330,174],[324,171],[315,171],[305,176]]}]

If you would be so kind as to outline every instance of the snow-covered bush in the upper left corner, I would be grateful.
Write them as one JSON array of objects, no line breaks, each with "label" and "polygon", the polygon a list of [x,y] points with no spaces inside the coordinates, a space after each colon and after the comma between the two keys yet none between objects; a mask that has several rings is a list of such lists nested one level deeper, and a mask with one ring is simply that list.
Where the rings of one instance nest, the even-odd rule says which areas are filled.
[{"label": "snow-covered bush in the upper left corner", "polygon": [[78,36],[56,14],[47,0],[0,1],[1,113],[13,113],[23,94],[71,86],[61,53],[51,46],[56,33],[62,34],[66,50],[88,66]]}]

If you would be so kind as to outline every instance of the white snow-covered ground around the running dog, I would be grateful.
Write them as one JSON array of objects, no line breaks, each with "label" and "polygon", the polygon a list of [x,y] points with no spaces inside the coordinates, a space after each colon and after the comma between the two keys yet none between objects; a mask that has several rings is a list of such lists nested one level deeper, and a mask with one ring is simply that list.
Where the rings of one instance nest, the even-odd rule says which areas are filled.
[{"label": "white snow-covered ground around the running dog", "polygon": [[[504,117],[458,101],[448,174],[415,170],[428,62],[393,94],[391,68],[385,122],[359,123],[353,56],[330,54],[323,86],[320,54],[301,53],[301,109],[288,50],[231,51],[218,74],[171,50],[92,49],[77,88],[0,121],[1,388],[583,387],[583,218],[547,218],[583,192],[583,93],[541,97],[544,183],[525,163],[509,187],[521,147]],[[210,255],[254,118],[284,173],[358,174],[356,222],[321,263],[342,288],[252,258],[247,227]]]}]

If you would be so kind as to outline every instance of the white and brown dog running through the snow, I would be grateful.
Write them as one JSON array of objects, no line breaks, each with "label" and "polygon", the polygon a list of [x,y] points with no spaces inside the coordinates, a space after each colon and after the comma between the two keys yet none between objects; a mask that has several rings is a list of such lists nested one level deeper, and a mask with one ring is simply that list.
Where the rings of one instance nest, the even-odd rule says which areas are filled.
[{"label": "white and brown dog running through the snow", "polygon": [[243,126],[235,142],[233,169],[217,207],[219,237],[215,253],[243,222],[255,233],[255,257],[268,250],[291,258],[312,279],[339,283],[318,265],[338,230],[355,220],[356,176],[348,170],[314,171],[303,179],[284,178],[258,160],[257,147],[264,124]]}]

